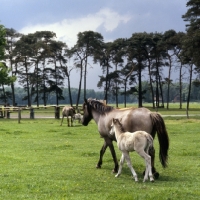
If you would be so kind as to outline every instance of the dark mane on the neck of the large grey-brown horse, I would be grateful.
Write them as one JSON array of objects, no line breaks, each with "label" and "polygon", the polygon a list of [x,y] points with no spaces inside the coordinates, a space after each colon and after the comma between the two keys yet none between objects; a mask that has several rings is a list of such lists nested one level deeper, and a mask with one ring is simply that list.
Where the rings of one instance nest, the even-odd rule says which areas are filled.
[{"label": "dark mane on the neck of the large grey-brown horse", "polygon": [[108,106],[105,103],[96,99],[88,99],[88,104],[90,107],[94,108],[101,114],[108,113],[114,109],[112,106]]}]

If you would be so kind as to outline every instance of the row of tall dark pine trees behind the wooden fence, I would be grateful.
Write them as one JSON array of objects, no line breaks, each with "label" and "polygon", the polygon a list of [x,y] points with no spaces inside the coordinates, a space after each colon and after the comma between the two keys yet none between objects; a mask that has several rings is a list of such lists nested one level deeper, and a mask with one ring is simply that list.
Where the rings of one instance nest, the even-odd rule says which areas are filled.
[{"label": "row of tall dark pine trees behind the wooden fence", "polygon": [[[133,33],[130,38],[118,38],[104,42],[103,36],[94,31],[84,31],[77,35],[77,42],[72,48],[56,40],[51,31],[36,31],[27,35],[20,34],[13,28],[0,26],[0,61],[1,62],[1,99],[16,104],[15,82],[26,92],[22,100],[27,105],[46,105],[49,96],[55,96],[58,105],[64,100],[63,88],[67,81],[68,99],[71,105],[87,98],[86,82],[88,66],[101,67],[97,86],[103,90],[103,99],[115,100],[123,96],[126,107],[127,98],[137,95],[138,107],[142,107],[146,94],[153,107],[164,105],[169,108],[172,88],[172,73],[176,69],[179,76],[178,96],[182,108],[183,85],[188,82],[186,97],[187,108],[191,98],[192,86],[199,86],[200,67],[200,18],[199,0],[190,0],[188,11],[182,16],[188,22],[186,32],[168,30],[164,33]],[[69,64],[69,60],[70,63]],[[4,62],[3,62],[4,61]],[[79,71],[79,87],[76,98],[72,98],[70,85],[71,71]],[[148,71],[144,87],[142,76]],[[167,74],[166,74],[167,72]],[[195,77],[194,77],[195,76]],[[2,78],[4,77],[4,78]],[[5,86],[10,85],[11,91]],[[163,88],[166,88],[164,100]]]}]

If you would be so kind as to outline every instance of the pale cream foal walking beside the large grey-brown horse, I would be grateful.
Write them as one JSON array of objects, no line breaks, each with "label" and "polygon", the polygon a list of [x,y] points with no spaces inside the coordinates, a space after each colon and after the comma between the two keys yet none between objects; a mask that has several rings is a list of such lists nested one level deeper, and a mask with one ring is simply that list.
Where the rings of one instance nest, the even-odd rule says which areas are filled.
[{"label": "pale cream foal walking beside the large grey-brown horse", "polygon": [[141,157],[145,159],[146,163],[146,170],[143,182],[148,180],[148,176],[150,178],[150,181],[154,181],[151,171],[151,156],[148,154],[149,148],[153,147],[153,138],[151,137],[151,135],[145,131],[136,131],[133,133],[125,132],[119,119],[114,118],[112,120],[110,134],[115,134],[117,146],[122,152],[119,170],[115,177],[118,177],[121,174],[122,166],[124,164],[124,160],[126,159],[127,165],[130,168],[135,178],[135,181],[138,181],[137,174],[131,165],[131,159],[129,156],[129,152],[136,151]]}]

